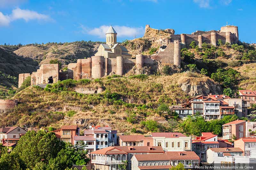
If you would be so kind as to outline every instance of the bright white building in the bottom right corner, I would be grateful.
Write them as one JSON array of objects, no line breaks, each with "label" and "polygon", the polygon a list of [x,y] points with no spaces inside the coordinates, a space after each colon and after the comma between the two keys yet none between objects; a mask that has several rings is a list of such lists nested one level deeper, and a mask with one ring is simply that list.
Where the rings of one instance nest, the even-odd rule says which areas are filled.
[{"label": "bright white building in the bottom right corner", "polygon": [[[235,169],[254,169],[256,164],[256,151],[252,151],[251,156],[240,156],[240,155],[234,155],[232,156],[229,153],[222,153],[222,152],[214,152],[213,154],[213,163],[214,166],[217,167],[215,169],[219,169],[219,167],[236,167]],[[241,168],[243,166],[243,168]],[[228,169],[228,168],[223,168]]]}]

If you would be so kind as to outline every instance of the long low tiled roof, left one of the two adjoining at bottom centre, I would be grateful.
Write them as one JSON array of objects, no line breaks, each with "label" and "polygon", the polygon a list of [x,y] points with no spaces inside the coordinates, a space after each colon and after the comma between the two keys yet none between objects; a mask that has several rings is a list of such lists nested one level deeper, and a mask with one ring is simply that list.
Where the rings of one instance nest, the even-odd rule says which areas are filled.
[{"label": "long low tiled roof, left one of the two adjoining at bottom centre", "polygon": [[167,154],[135,154],[138,161],[170,160]]}]

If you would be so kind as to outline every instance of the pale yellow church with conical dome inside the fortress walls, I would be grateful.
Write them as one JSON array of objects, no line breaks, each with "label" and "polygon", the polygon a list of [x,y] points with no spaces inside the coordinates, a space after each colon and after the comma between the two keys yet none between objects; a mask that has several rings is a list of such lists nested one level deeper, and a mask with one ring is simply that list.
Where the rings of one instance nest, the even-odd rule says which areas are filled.
[{"label": "pale yellow church with conical dome inside the fortress walls", "polygon": [[95,56],[104,56],[105,58],[116,58],[122,56],[123,58],[131,58],[128,50],[116,43],[116,31],[112,25],[108,28],[106,33],[106,44],[100,44]]}]

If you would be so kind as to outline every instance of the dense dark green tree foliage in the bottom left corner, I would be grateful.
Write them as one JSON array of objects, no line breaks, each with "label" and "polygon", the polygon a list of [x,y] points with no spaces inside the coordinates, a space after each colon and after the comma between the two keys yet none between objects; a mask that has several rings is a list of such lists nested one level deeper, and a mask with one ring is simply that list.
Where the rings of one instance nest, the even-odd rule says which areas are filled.
[{"label": "dense dark green tree foliage in the bottom left corner", "polygon": [[11,153],[0,158],[1,170],[65,170],[73,164],[87,163],[84,145],[60,142],[54,133],[28,131]]}]

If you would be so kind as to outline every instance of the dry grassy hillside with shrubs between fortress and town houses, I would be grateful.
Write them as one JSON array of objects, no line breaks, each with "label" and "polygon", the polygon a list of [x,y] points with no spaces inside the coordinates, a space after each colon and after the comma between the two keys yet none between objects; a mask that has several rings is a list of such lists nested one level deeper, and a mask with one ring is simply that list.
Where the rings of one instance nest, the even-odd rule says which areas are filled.
[{"label": "dry grassy hillside with shrubs between fortress and town houses", "polygon": [[[161,114],[161,105],[173,105],[186,101],[190,95],[182,90],[205,89],[209,92],[220,85],[197,73],[176,73],[171,76],[136,75],[80,81],[65,80],[45,89],[28,87],[12,99],[20,104],[4,113],[0,127],[20,125],[24,127],[54,127],[78,124],[82,129],[90,125],[108,125],[120,133],[131,133],[136,128],[147,133],[141,122],[157,120],[163,127],[172,114]],[[207,84],[207,85],[206,85]],[[100,94],[80,94],[75,89],[104,89]],[[181,87],[181,88],[180,88]],[[188,90],[192,92],[192,90]],[[196,91],[195,91],[196,92]],[[201,94],[202,91],[197,91]],[[47,129],[47,128],[46,128]]]}]

